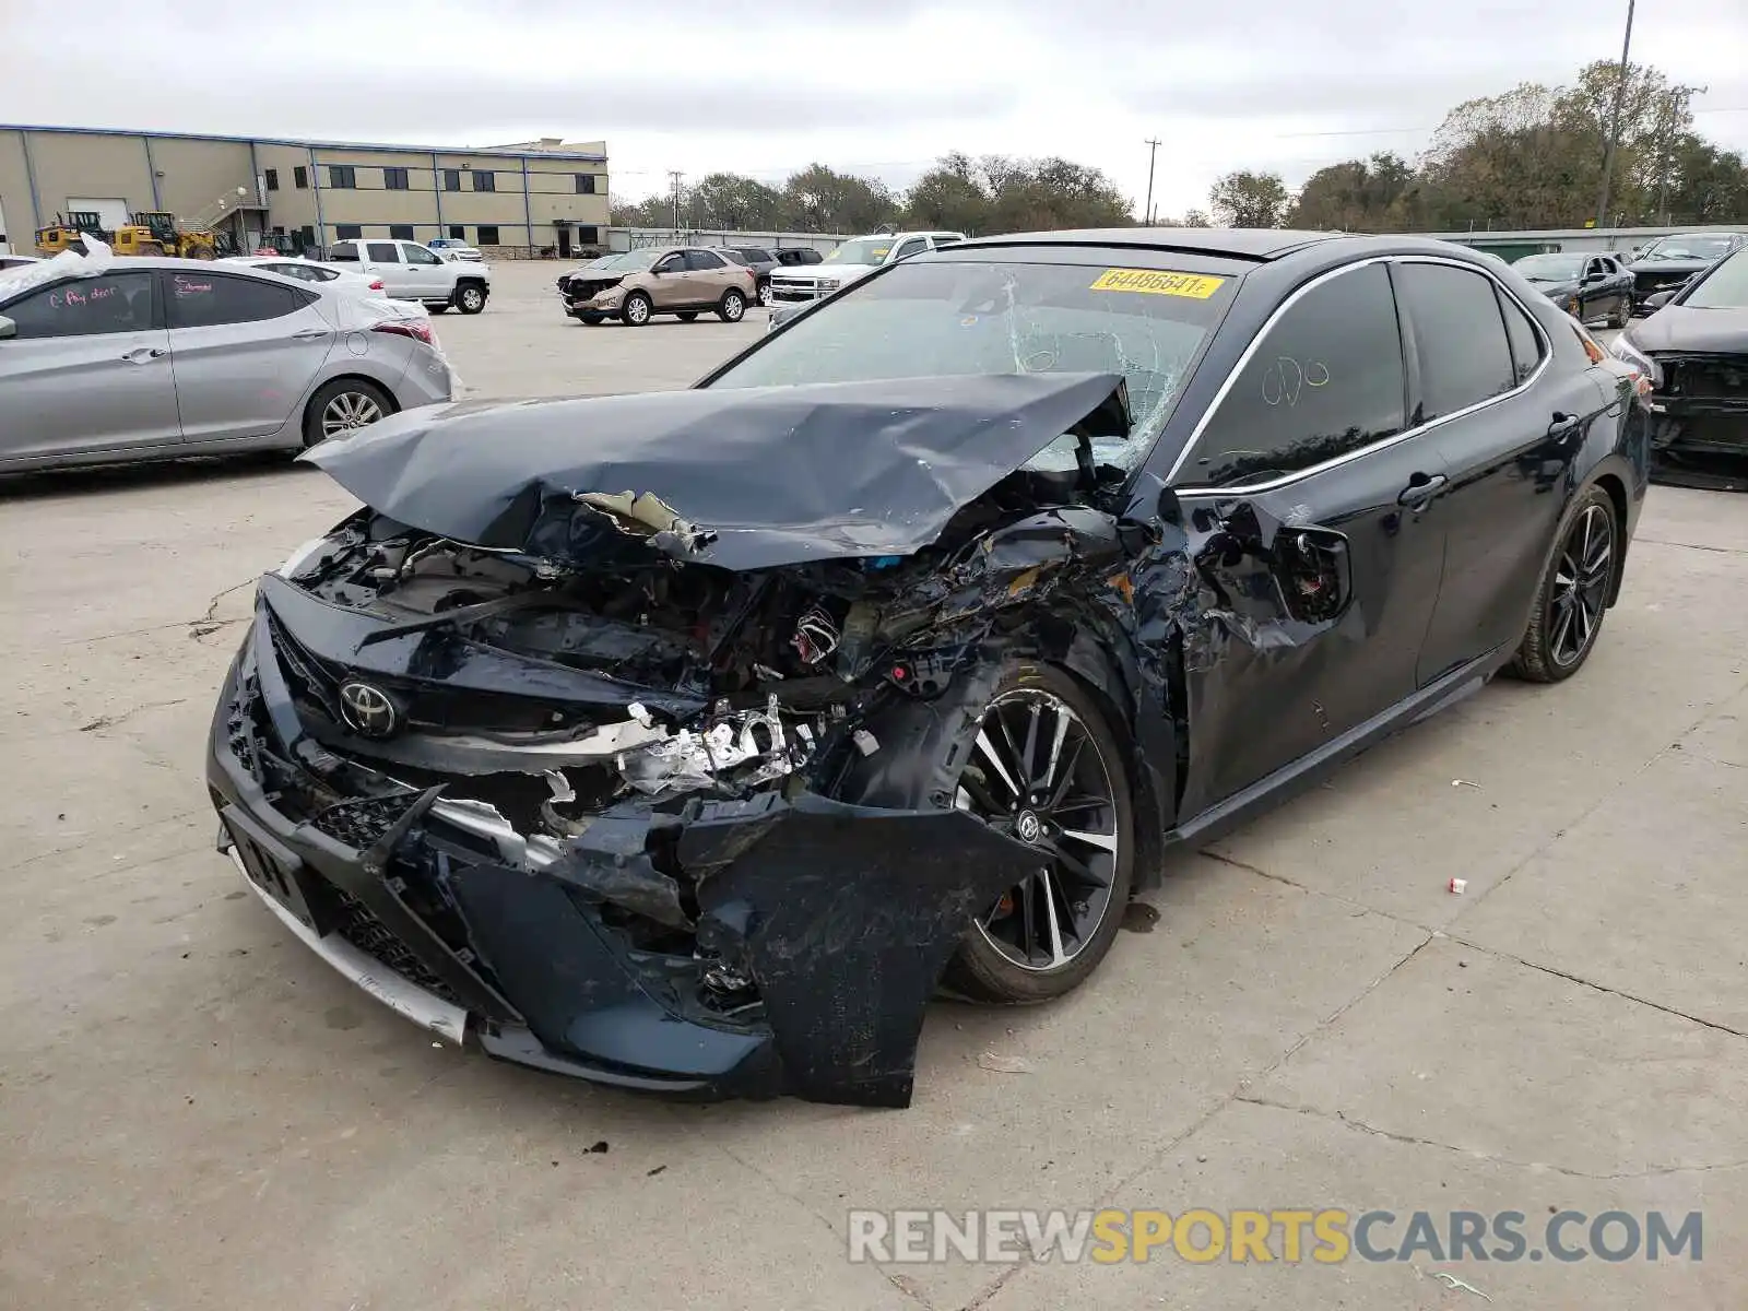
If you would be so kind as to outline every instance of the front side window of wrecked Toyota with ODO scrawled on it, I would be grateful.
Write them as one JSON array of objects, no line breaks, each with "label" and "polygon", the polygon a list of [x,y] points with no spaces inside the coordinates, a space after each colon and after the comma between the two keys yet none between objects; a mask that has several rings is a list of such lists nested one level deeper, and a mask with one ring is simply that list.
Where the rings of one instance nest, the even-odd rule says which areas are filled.
[{"label": "front side window of wrecked Toyota with ODO scrawled on it", "polygon": [[1295,474],[1391,437],[1404,428],[1405,386],[1390,274],[1383,264],[1339,273],[1259,343],[1203,428],[1187,481]]}]

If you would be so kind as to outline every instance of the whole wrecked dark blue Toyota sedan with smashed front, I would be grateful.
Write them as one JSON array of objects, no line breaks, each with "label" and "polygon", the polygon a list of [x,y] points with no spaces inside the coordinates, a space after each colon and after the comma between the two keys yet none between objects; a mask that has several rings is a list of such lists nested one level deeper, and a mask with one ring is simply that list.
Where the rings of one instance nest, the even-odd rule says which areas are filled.
[{"label": "whole wrecked dark blue Toyota sedan with smashed front", "polygon": [[364,509],[260,580],[212,797],[287,928],[449,1040],[904,1105],[942,979],[1059,996],[1164,848],[1582,669],[1643,418],[1461,246],[967,241],[690,390],[309,453]]}]

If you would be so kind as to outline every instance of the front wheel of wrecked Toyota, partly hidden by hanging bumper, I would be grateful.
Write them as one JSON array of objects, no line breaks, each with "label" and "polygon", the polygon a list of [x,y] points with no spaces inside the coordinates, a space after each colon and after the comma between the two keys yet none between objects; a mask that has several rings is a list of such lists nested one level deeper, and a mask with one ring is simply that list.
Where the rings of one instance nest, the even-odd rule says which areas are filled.
[{"label": "front wheel of wrecked Toyota, partly hidden by hanging bumper", "polygon": [[1038,872],[979,912],[946,986],[979,1002],[1047,1002],[1079,988],[1122,926],[1134,881],[1134,801],[1117,734],[1049,666],[996,685],[953,804],[1038,848]]}]

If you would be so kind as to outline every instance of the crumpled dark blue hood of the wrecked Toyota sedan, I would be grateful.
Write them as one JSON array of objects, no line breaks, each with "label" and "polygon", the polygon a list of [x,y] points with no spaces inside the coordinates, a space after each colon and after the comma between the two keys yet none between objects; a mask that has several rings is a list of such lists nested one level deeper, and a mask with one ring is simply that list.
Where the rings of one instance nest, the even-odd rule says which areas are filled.
[{"label": "crumpled dark blue hood of the wrecked Toyota sedan", "polygon": [[591,565],[638,540],[753,570],[912,554],[1084,420],[1127,432],[1119,374],[432,406],[302,460],[379,514],[472,545]]}]

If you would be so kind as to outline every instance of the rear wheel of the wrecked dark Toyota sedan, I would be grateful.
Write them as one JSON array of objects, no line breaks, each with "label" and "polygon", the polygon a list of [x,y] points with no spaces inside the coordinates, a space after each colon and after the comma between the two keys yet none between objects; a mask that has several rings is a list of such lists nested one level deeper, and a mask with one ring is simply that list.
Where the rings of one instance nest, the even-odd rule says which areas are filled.
[{"label": "rear wheel of the wrecked dark Toyota sedan", "polygon": [[1615,503],[1601,488],[1589,488],[1561,528],[1530,628],[1507,669],[1531,683],[1557,683],[1582,669],[1596,649],[1619,568]]}]

